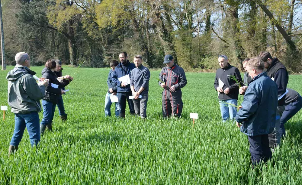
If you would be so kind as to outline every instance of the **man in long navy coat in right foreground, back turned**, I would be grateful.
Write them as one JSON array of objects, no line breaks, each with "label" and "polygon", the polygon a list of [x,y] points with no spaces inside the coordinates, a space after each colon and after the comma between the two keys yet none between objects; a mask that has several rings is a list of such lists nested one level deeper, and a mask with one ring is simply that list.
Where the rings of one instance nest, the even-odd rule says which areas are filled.
[{"label": "man in long navy coat in right foreground, back turned", "polygon": [[263,70],[259,58],[247,62],[246,71],[252,81],[236,115],[237,126],[248,136],[253,165],[271,158],[268,134],[274,130],[278,105],[278,87]]}]

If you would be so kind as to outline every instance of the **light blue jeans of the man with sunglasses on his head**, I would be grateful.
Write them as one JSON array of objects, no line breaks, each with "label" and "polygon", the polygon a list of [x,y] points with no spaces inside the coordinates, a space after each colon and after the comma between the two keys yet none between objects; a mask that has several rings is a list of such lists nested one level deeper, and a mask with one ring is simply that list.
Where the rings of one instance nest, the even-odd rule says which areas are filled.
[{"label": "light blue jeans of the man with sunglasses on his head", "polygon": [[[233,105],[237,105],[237,99],[230,99],[230,100],[223,100],[223,101]],[[236,107],[226,104],[222,101],[219,101],[219,105],[220,105],[220,112],[223,121],[226,121],[227,119],[234,119],[236,117],[237,114]]]}]

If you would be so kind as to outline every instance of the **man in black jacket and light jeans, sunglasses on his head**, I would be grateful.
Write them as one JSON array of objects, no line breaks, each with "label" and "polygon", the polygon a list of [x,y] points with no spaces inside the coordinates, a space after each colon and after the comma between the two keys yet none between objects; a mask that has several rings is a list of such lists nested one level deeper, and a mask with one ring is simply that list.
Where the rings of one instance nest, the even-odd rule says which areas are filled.
[{"label": "man in black jacket and light jeans, sunglasses on his head", "polygon": [[[231,77],[234,76],[237,81],[242,82],[239,69],[231,66],[226,55],[219,55],[218,62],[220,69],[216,71],[214,88],[218,91],[221,117],[223,121],[234,119],[237,113],[236,107],[238,101],[239,84]],[[225,103],[226,102],[226,103]]]}]

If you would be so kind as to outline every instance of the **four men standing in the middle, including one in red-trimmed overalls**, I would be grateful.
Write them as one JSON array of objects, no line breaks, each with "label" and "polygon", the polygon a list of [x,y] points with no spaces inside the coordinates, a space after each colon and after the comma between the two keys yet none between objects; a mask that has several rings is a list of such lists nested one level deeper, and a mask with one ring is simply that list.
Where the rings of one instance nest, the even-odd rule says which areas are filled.
[{"label": "four men standing in the middle, including one in red-trimmed overalls", "polygon": [[[126,101],[128,102],[130,115],[147,116],[147,102],[149,91],[150,71],[143,66],[143,58],[136,55],[133,63],[130,63],[126,52],[119,54],[120,63],[117,60],[110,62],[107,85],[108,92],[105,96],[105,116],[111,116],[110,96],[117,96],[115,103],[115,116],[125,118]],[[172,55],[165,55],[164,64],[159,74],[159,86],[162,91],[162,115],[163,117],[177,116],[182,114],[182,91],[187,84],[185,71],[174,63]],[[130,83],[119,81],[119,78],[129,75]]]}]

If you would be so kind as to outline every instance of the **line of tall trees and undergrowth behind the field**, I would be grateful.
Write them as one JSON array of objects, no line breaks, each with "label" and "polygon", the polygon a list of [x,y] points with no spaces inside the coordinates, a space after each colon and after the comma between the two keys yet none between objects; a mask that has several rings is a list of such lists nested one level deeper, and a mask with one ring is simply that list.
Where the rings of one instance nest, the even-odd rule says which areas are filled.
[{"label": "line of tall trees and undergrowth behind the field", "polygon": [[150,68],[172,54],[184,69],[216,69],[269,51],[291,72],[302,69],[299,0],[3,0],[8,65],[24,51],[33,65],[49,58],[104,67],[121,51]]}]

